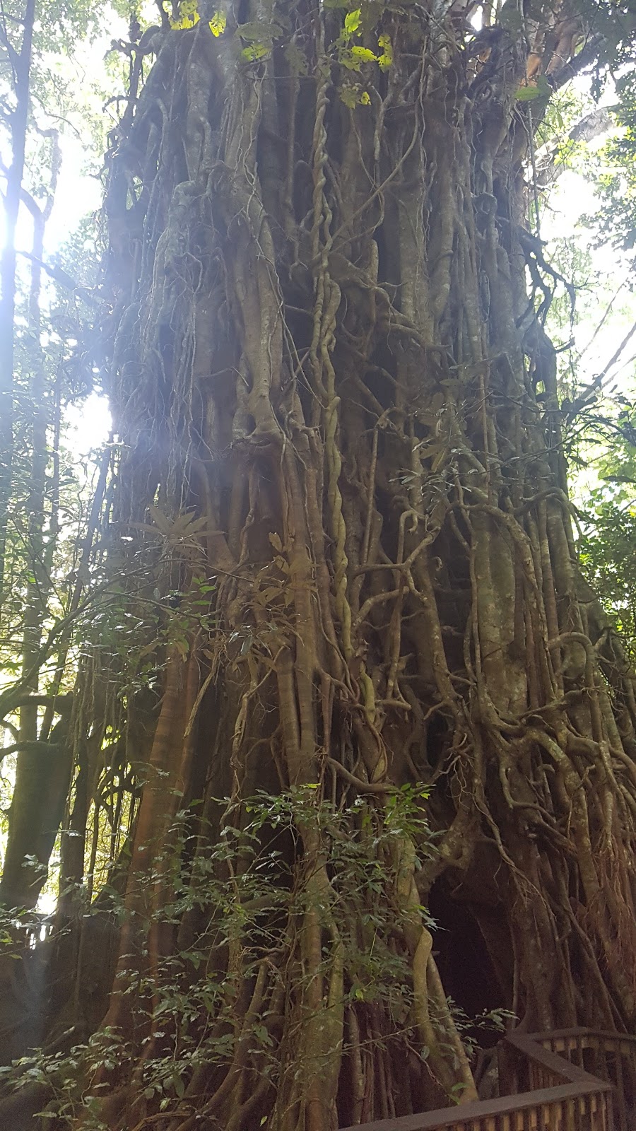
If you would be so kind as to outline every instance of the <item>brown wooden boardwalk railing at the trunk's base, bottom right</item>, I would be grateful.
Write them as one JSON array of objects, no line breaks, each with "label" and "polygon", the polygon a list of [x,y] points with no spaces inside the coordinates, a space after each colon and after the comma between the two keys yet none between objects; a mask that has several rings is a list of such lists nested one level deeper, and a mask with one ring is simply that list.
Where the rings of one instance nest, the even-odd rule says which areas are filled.
[{"label": "brown wooden boardwalk railing at the trunk's base, bottom right", "polygon": [[512,1034],[501,1063],[523,1091],[342,1131],[636,1131],[636,1037]]}]

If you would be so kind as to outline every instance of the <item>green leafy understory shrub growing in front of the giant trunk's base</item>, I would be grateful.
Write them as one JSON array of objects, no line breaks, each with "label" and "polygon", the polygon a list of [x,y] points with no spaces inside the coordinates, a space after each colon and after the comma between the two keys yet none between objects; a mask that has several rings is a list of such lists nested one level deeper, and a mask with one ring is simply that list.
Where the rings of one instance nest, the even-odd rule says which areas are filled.
[{"label": "green leafy understory shrub growing in front of the giant trunk's base", "polygon": [[[414,920],[427,929],[433,923],[426,907],[405,903],[401,883],[405,846],[415,867],[436,854],[423,812],[427,796],[407,786],[394,788],[381,805],[363,796],[338,805],[312,784],[276,795],[259,791],[247,801],[218,802],[216,835],[212,821],[199,821],[194,835],[197,803],[180,810],[167,841],[152,846],[153,867],[138,877],[149,891],[167,870],[172,898],[134,923],[130,944],[145,962],[122,967],[115,991],[126,999],[128,1027],[103,1025],[68,1050],[20,1057],[0,1078],[17,1091],[34,1083],[52,1090],[54,1098],[38,1113],[48,1126],[75,1125],[81,1114],[83,1126],[102,1131],[108,1124],[97,1113],[114,1083],[139,1083],[139,1123],[151,1112],[194,1112],[197,1081],[227,1072],[243,1048],[267,1090],[284,1091],[286,1074],[320,1072],[334,1052],[351,1057],[364,1015],[390,1021],[368,1038],[369,1052],[399,1037],[424,1065],[429,1048],[418,1035],[405,938]],[[312,858],[303,847],[310,835],[317,843]],[[103,916],[104,906],[113,922],[123,922],[114,888],[103,888],[87,914]],[[303,973],[308,917],[319,923],[320,958],[317,969]],[[184,923],[190,931],[183,932]],[[151,968],[147,940],[171,927],[182,933],[182,944]],[[290,964],[296,967],[291,995],[284,983]],[[317,978],[332,983],[329,1011],[355,1013],[358,1025],[337,1050],[294,1050],[294,1017],[304,1015],[307,1024]],[[317,1012],[323,1009],[320,1002]],[[467,1019],[463,1025],[469,1027]],[[439,1018],[441,1041],[444,1031]]]}]

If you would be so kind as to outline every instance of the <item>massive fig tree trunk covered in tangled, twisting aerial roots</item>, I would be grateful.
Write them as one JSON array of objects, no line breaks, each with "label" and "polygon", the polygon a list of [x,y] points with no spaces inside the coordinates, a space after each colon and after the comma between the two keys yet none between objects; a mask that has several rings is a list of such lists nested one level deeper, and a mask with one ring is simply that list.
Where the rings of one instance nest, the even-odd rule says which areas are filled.
[{"label": "massive fig tree trunk covered in tangled, twisting aerial roots", "polygon": [[[84,662],[63,882],[115,793],[132,831],[111,965],[89,1009],[83,921],[63,1016],[108,1007],[127,1043],[93,1078],[111,1129],[332,1131],[471,1098],[440,970],[526,1029],[635,1019],[634,680],[578,572],[525,279],[540,100],[517,95],[569,54],[558,20],[528,43],[475,40],[459,5],[381,12],[343,29],[311,0],[234,5],[224,31],[213,11],[157,29],[110,155],[111,556],[146,636],[143,662],[109,640]],[[418,821],[386,832],[409,785],[437,834],[420,860]],[[298,805],[294,898],[269,916],[241,895],[244,844],[223,848],[258,789]],[[320,801],[381,865],[381,912],[343,889]],[[180,1005],[206,978],[214,1007]],[[208,1052],[157,1114],[148,1065],[179,1060],[183,1026]]]}]

